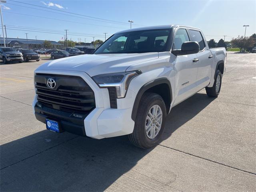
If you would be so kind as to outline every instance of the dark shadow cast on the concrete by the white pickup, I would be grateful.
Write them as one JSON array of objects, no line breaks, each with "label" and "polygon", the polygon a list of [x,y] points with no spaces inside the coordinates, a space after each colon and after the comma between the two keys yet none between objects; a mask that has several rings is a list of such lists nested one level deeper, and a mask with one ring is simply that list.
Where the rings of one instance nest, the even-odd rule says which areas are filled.
[{"label": "dark shadow cast on the concrete by the white pickup", "polygon": [[[173,108],[164,139],[213,100],[195,94]],[[151,150],[132,146],[126,136],[93,140],[44,130],[1,146],[1,190],[104,191]]]}]

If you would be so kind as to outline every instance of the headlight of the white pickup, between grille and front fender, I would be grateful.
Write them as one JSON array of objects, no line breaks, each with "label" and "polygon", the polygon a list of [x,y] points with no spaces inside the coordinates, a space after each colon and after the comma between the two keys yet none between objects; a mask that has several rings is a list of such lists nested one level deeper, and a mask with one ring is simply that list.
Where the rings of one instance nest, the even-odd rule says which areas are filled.
[{"label": "headlight of the white pickup, between grille and front fender", "polygon": [[120,73],[109,73],[93,76],[92,79],[100,88],[115,87],[116,97],[124,98],[131,80],[141,74],[140,70]]}]

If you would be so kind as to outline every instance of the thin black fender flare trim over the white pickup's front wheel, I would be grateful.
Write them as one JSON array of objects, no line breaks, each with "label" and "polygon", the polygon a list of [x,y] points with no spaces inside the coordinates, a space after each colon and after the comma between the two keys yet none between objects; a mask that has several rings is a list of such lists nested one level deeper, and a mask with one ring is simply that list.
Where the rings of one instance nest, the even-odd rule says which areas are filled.
[{"label": "thin black fender flare trim over the white pickup's front wheel", "polygon": [[[135,98],[135,101],[134,101],[134,105],[133,105],[133,108],[132,108],[132,120],[136,120],[136,116],[137,116],[137,112],[138,112],[138,108],[139,108],[139,104],[140,104],[140,99],[142,97],[142,95],[150,88],[156,86],[156,85],[159,85],[159,84],[167,84],[169,89],[170,89],[170,104],[172,103],[172,87],[171,87],[171,84],[170,84],[170,81],[167,79],[167,78],[159,78],[159,79],[155,79],[155,80],[152,80],[146,84],[144,84],[139,92],[137,93],[136,95],[136,98]],[[168,113],[169,111],[167,111]]]}]

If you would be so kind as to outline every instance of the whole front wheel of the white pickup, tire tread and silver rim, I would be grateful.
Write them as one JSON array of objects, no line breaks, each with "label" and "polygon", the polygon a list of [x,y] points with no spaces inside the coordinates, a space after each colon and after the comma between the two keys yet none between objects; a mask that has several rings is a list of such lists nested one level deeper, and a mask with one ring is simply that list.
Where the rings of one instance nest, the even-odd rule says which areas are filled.
[{"label": "whole front wheel of the white pickup, tire tread and silver rim", "polygon": [[[155,127],[151,126],[152,124],[154,125],[154,123],[156,123],[156,119],[154,119],[155,121],[151,121],[151,118],[151,122],[148,121],[149,111],[152,110],[154,106],[157,106],[157,112],[160,112],[160,109],[162,110],[162,124],[160,126],[158,124],[158,130],[156,130]],[[157,121],[160,122],[160,119],[161,118],[158,118]],[[130,142],[140,148],[152,148],[156,146],[162,138],[162,134],[165,128],[165,120],[166,106],[162,97],[156,93],[144,93],[140,101],[140,107],[138,109],[137,117],[135,120],[134,130],[131,134],[128,135]],[[146,124],[148,124],[148,127],[152,127],[152,129],[148,128],[148,130],[150,129],[148,133],[146,132]],[[155,126],[157,127],[157,124],[155,124]],[[156,133],[156,136],[154,138],[150,138],[150,136],[154,135],[152,134],[152,132]]]}]

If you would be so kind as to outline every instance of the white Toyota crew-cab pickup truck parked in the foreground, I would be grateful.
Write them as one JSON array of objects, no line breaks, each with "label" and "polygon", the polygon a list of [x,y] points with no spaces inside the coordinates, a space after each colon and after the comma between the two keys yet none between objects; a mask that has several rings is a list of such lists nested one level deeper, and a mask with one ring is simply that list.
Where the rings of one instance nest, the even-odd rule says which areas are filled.
[{"label": "white Toyota crew-cab pickup truck parked in the foreground", "polygon": [[46,62],[34,72],[36,118],[54,132],[102,139],[128,135],[151,148],[166,116],[196,92],[217,97],[225,48],[198,28],[166,25],[117,32],[91,55]]}]

